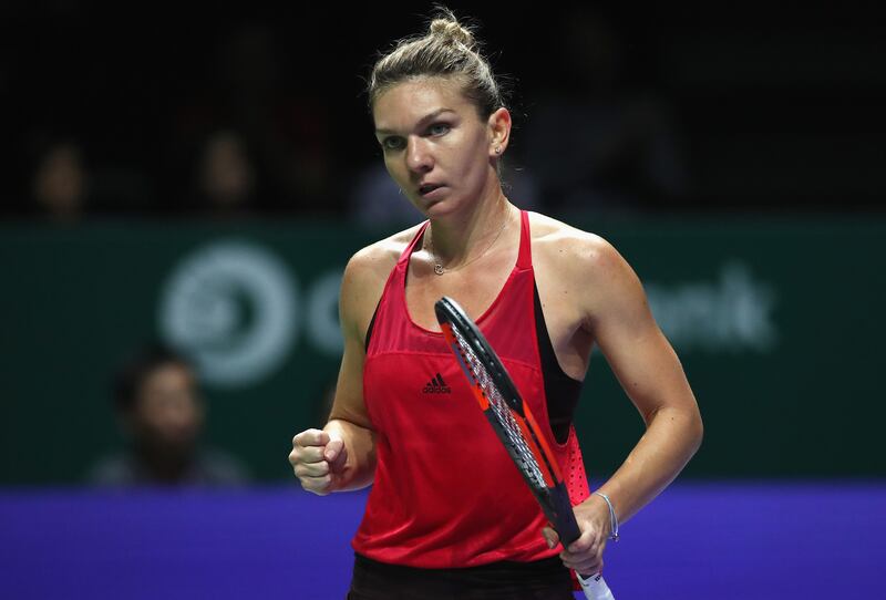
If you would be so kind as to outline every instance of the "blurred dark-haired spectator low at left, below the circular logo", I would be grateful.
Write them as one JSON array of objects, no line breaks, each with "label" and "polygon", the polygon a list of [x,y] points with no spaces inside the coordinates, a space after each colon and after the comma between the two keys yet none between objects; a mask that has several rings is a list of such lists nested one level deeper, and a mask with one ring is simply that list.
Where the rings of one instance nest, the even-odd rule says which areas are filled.
[{"label": "blurred dark-haired spectator low at left, below the circular logo", "polygon": [[233,456],[200,443],[206,406],[192,364],[159,344],[141,349],[113,385],[126,452],[92,468],[97,485],[235,485],[248,479]]}]

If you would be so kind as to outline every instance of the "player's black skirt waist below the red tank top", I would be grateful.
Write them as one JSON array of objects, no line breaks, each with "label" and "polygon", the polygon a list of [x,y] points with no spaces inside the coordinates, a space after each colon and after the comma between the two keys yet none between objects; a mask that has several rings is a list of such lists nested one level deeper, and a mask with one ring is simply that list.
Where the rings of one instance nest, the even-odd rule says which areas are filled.
[{"label": "player's black skirt waist below the red tank top", "polygon": [[559,557],[499,561],[459,569],[420,569],[379,562],[354,552],[348,600],[574,600]]}]

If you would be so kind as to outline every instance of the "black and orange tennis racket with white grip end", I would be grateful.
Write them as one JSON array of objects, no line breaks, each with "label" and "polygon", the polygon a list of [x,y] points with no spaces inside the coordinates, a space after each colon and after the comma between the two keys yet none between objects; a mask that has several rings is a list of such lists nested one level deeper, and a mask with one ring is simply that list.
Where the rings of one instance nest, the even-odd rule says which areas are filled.
[{"label": "black and orange tennis racket with white grip end", "polygon": [[[569,493],[542,430],[480,328],[451,298],[434,303],[443,335],[492,428],[507,448],[564,547],[580,536]],[[590,600],[615,600],[599,573],[578,576]]]}]

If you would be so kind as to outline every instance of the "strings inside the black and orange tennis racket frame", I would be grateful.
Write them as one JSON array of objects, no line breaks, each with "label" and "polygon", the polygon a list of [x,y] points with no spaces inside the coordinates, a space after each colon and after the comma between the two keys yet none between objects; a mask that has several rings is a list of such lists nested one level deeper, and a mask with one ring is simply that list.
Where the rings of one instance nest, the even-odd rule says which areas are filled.
[{"label": "strings inside the black and orange tennis racket frame", "polygon": [[507,436],[508,446],[519,461],[521,470],[537,489],[547,488],[547,485],[545,484],[545,477],[542,474],[538,462],[535,459],[535,455],[526,445],[526,441],[523,437],[519,425],[517,425],[517,422],[514,418],[507,402],[498,391],[498,386],[495,385],[495,381],[490,375],[486,366],[483,364],[483,361],[481,361],[471,345],[462,337],[461,332],[456,328],[452,328],[452,332],[455,335],[455,340],[459,342],[461,354],[465,359],[465,364],[470,371],[470,374],[472,375],[471,379],[476,382],[476,384],[483,391],[483,394],[486,396],[486,400],[488,400],[496,421],[498,421],[501,428]]}]

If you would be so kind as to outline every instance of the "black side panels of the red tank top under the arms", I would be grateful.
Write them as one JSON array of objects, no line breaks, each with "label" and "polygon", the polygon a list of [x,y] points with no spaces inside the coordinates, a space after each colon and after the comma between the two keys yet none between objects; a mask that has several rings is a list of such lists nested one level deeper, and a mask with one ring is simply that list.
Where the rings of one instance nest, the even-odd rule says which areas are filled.
[{"label": "black side panels of the red tank top under the arms", "polygon": [[[379,300],[381,304],[381,300]],[[367,340],[364,343],[365,352],[369,352],[369,340],[372,337],[372,328],[375,324],[375,315],[379,313],[379,304],[372,313],[372,320],[367,328]],[[538,298],[538,287],[533,278],[533,304],[535,307],[535,337],[538,340],[538,354],[542,359],[542,379],[545,382],[545,397],[547,399],[547,414],[550,422],[550,431],[558,443],[566,443],[569,436],[569,425],[573,423],[575,408],[578,405],[578,396],[581,393],[581,382],[574,380],[560,368],[557,355],[554,353],[554,345],[547,333],[545,314],[542,311],[542,300]]]}]

